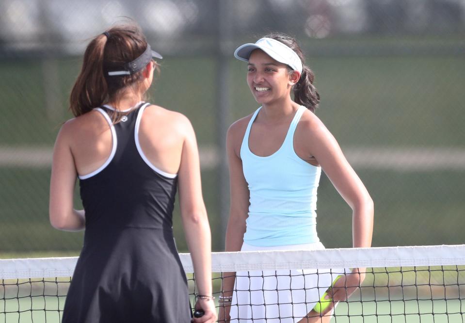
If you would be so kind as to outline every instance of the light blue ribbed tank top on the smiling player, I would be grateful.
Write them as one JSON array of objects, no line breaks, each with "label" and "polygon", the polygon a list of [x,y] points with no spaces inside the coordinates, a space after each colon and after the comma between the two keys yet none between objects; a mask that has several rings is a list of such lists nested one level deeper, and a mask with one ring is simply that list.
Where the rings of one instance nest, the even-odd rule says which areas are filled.
[{"label": "light blue ribbed tank top on the smiling player", "polygon": [[321,167],[297,156],[293,144],[306,108],[297,110],[283,145],[266,157],[249,149],[250,129],[260,108],[250,119],[241,145],[242,168],[250,192],[244,242],[255,246],[319,242],[315,210]]}]

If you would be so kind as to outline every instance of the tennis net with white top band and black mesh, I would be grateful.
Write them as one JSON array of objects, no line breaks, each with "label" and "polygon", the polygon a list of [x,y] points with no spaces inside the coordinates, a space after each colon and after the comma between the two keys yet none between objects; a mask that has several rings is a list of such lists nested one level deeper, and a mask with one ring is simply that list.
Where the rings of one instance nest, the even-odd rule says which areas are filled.
[{"label": "tennis net with white top band and black mesh", "polygon": [[[192,261],[189,254],[180,258],[193,304]],[[76,261],[0,259],[0,322],[60,322]],[[213,291],[218,301],[226,273],[237,273],[230,309],[239,322],[298,322],[299,310],[313,308],[351,268],[366,268],[366,278],[337,305],[332,323],[465,321],[465,245],[213,253]],[[308,322],[321,322],[313,315]]]}]

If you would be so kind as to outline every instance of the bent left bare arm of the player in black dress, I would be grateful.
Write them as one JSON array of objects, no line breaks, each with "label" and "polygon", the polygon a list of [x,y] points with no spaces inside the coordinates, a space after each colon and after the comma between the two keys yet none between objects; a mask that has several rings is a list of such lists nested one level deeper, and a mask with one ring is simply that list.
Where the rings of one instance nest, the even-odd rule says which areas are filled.
[{"label": "bent left bare arm of the player in black dress", "polygon": [[77,172],[69,145],[69,132],[68,125],[64,124],[53,149],[48,213],[53,227],[78,231],[84,229],[85,215],[84,210],[73,209]]}]

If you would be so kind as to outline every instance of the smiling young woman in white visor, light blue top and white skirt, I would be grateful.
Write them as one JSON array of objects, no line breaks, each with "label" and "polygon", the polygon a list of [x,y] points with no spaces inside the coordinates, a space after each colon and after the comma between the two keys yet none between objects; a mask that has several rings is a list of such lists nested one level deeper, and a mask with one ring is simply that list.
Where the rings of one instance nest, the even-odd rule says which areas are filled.
[{"label": "smiling young woman in white visor, light blue top and white skirt", "polygon": [[[321,170],[353,210],[353,246],[369,247],[373,201],[314,114],[320,97],[295,39],[270,34],[237,48],[234,56],[247,62],[247,84],[261,106],[227,132],[231,209],[226,251],[323,249],[315,212]],[[334,305],[365,277],[364,268],[331,271],[227,273],[219,321],[329,322]],[[316,311],[326,291],[331,302]]]}]

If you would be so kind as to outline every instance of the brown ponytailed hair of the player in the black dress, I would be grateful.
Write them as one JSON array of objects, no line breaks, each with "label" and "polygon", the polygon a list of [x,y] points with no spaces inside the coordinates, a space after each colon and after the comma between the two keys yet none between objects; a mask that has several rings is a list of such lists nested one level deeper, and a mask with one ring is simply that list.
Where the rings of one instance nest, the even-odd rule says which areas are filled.
[{"label": "brown ponytailed hair of the player in the black dress", "polygon": [[145,36],[134,24],[112,27],[92,39],[69,98],[72,113],[79,116],[105,102],[117,102],[128,88],[137,93],[143,71],[122,76],[109,76],[108,71],[121,70],[146,48]]}]

